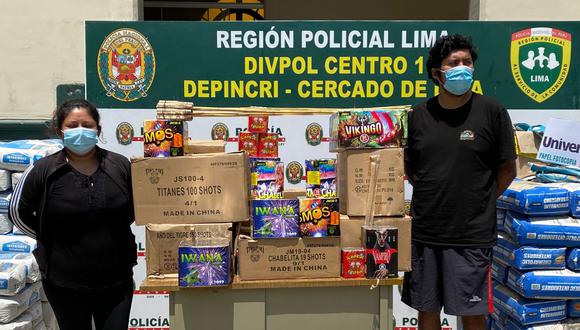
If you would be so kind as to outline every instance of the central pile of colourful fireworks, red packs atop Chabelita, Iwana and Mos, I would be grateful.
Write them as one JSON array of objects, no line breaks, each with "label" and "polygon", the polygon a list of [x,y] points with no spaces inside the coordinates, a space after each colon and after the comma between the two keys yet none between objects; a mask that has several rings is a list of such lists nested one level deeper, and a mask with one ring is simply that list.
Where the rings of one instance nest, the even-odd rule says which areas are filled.
[{"label": "central pile of colourful fireworks, red packs atop Chabelita, Iwana and Mos", "polygon": [[340,236],[335,159],[306,160],[306,196],[286,198],[278,134],[268,133],[267,116],[249,117],[239,150],[250,156],[253,239]]}]

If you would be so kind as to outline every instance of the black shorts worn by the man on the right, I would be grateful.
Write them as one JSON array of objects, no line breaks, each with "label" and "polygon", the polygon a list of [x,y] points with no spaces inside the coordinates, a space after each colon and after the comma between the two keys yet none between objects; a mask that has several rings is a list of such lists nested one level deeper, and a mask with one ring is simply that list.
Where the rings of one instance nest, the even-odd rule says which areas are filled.
[{"label": "black shorts worn by the man on the right", "polygon": [[487,315],[493,311],[491,248],[413,244],[402,301],[420,312]]}]

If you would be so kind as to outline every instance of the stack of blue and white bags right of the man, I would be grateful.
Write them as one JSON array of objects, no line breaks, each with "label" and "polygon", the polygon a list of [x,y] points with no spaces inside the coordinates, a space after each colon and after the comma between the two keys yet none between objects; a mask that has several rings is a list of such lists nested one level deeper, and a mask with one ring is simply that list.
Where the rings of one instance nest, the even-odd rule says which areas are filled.
[{"label": "stack of blue and white bags right of the man", "polygon": [[494,329],[578,329],[580,184],[516,179],[498,198]]}]

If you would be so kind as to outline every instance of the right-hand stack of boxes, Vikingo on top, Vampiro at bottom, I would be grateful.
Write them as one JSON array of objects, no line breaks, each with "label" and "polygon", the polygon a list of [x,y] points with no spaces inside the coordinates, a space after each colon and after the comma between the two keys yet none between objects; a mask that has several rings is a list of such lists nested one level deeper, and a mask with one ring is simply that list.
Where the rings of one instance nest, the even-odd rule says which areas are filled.
[{"label": "right-hand stack of boxes, Vikingo on top, Vampiro at bottom", "polygon": [[[338,197],[343,231],[342,277],[398,274],[399,228],[404,221],[405,110],[343,111],[330,118],[330,151],[338,152]],[[380,160],[371,182],[371,156]],[[371,189],[376,190],[370,205]],[[365,224],[374,208],[376,221]]]}]

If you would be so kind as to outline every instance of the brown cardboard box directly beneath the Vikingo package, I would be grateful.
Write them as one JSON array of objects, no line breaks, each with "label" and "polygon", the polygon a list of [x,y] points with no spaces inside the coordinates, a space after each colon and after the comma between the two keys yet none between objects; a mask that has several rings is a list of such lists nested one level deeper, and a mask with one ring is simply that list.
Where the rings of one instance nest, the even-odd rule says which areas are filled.
[{"label": "brown cardboard box directly beneath the Vikingo package", "polygon": [[347,150],[338,154],[340,212],[349,216],[367,213],[370,156],[380,155],[375,216],[399,216],[405,212],[403,149]]}]

